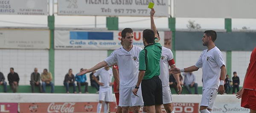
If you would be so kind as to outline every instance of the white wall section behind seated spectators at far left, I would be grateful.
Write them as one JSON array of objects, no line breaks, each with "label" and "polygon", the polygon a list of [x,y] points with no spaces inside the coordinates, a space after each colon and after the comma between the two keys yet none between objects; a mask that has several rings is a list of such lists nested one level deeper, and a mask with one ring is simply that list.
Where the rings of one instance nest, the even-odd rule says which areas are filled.
[{"label": "white wall section behind seated spectators at far left", "polygon": [[18,73],[20,77],[19,85],[29,85],[30,75],[34,68],[42,73],[44,68],[49,67],[49,51],[38,49],[0,49],[0,72],[6,78],[10,68]]}]

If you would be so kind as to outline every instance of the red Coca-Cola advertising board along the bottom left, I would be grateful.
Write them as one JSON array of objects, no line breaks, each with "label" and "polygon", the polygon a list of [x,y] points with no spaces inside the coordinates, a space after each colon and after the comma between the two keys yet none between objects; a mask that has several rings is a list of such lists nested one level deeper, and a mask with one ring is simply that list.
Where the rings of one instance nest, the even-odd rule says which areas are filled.
[{"label": "red Coca-Cola advertising board along the bottom left", "polygon": [[[98,102],[20,103],[20,113],[96,113],[97,105]],[[109,110],[116,112],[116,102],[110,102]]]}]

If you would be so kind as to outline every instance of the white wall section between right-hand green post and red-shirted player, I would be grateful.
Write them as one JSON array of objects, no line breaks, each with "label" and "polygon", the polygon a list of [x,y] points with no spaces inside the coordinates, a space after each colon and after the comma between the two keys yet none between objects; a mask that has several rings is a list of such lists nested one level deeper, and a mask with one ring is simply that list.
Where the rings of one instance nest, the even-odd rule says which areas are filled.
[{"label": "white wall section between right-hand green post and red-shirted player", "polygon": [[[246,74],[246,70],[248,68],[248,65],[250,63],[250,55],[252,51],[232,51],[232,77],[233,72],[236,71],[237,76],[239,76],[240,79],[240,86],[244,83],[244,77]],[[232,80],[232,78],[230,78]]]}]

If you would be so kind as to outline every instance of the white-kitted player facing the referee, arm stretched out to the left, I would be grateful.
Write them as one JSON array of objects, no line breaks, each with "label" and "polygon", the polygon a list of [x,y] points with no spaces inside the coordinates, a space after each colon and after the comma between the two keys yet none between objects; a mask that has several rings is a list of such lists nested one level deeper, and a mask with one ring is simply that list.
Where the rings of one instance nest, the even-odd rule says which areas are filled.
[{"label": "white-kitted player facing the referee, arm stretched out to the left", "polygon": [[129,107],[133,107],[133,113],[138,113],[140,106],[143,105],[142,93],[139,90],[138,96],[135,96],[132,90],[138,80],[139,54],[142,48],[132,45],[134,35],[131,28],[123,29],[121,35],[124,43],[122,47],[114,50],[108,58],[93,68],[84,69],[79,75],[117,63],[119,68],[119,106],[122,107],[122,113],[128,113]]}]

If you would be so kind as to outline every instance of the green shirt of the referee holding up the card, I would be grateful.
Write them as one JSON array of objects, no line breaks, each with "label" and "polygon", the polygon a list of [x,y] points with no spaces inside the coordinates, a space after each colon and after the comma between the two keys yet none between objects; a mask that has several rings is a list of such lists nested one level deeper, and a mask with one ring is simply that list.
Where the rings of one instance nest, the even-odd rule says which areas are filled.
[{"label": "green shirt of the referee holding up the card", "polygon": [[149,44],[140,51],[140,71],[145,71],[143,79],[151,79],[160,75],[160,58],[162,46],[155,38],[154,44]]}]

